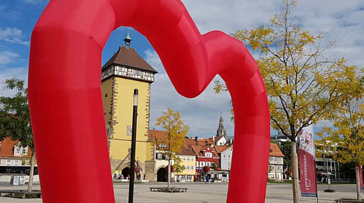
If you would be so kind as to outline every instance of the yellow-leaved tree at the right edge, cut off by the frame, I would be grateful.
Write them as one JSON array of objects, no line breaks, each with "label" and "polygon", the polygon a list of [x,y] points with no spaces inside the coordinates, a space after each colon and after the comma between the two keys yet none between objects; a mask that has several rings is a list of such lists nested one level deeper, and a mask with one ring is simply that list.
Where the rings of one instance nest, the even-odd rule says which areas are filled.
[{"label": "yellow-leaved tree at the right edge, cut off by the frame", "polygon": [[323,141],[330,143],[335,160],[355,162],[357,199],[360,200],[359,165],[364,164],[364,104],[358,98],[345,101],[331,120],[334,128],[324,127],[319,133]]}]

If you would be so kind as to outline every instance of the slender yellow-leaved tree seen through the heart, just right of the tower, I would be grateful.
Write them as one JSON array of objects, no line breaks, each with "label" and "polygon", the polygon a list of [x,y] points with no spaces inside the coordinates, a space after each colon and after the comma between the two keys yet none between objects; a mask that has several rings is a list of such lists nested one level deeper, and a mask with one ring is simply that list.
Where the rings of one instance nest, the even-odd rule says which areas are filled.
[{"label": "slender yellow-leaved tree seen through the heart, just right of the tower", "polygon": [[155,144],[163,146],[164,155],[168,157],[168,178],[167,187],[170,187],[171,183],[171,161],[175,154],[181,152],[181,146],[184,143],[184,138],[188,133],[188,125],[182,122],[179,112],[173,111],[168,108],[163,112],[163,115],[157,118],[156,126],[160,126],[165,131],[165,136],[156,140]]}]

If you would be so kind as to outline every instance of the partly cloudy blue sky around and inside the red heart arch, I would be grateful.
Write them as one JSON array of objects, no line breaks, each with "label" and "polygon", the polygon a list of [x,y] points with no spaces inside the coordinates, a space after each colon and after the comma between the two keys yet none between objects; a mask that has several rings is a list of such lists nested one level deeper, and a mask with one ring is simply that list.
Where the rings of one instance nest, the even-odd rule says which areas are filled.
[{"label": "partly cloudy blue sky around and inside the red heart arch", "polygon": [[[276,12],[283,8],[282,0],[183,0],[201,33],[222,30],[227,33],[251,25],[268,24]],[[41,15],[48,0],[0,0],[0,82],[6,78],[27,79],[29,44],[33,26]],[[335,57],[346,57],[349,64],[364,64],[364,1],[351,0],[301,0],[293,8],[297,22],[304,29],[317,34],[323,31],[325,40],[336,39],[337,44],[330,49]],[[103,50],[103,63],[123,45],[126,27],[111,33]],[[159,72],[152,84],[151,124],[167,108],[180,111],[182,118],[190,125],[189,136],[212,136],[218,126],[220,112],[225,118],[228,134],[233,134],[233,123],[229,120],[229,93],[216,95],[210,85],[203,94],[194,99],[186,99],[177,94],[153,47],[147,39],[130,30],[133,39],[131,46]],[[257,57],[257,55],[255,55]],[[0,88],[2,84],[0,83]],[[0,89],[1,95],[11,95]],[[330,126],[322,121],[314,127]],[[272,131],[272,134],[275,132]]]}]

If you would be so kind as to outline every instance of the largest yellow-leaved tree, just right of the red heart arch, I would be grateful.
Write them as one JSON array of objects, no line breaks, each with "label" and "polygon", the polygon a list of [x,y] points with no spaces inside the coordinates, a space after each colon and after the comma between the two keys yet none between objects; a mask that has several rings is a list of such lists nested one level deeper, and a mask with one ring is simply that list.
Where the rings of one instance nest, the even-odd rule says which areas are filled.
[{"label": "largest yellow-leaved tree, just right of the red heart arch", "polygon": [[[299,202],[296,138],[304,127],[331,116],[348,95],[359,91],[357,67],[327,54],[334,41],[322,46],[322,33],[313,35],[295,24],[295,1],[274,15],[269,25],[238,30],[233,37],[260,54],[257,60],[266,84],[271,126],[291,140],[294,203]],[[227,90],[215,83],[216,93]]]}]

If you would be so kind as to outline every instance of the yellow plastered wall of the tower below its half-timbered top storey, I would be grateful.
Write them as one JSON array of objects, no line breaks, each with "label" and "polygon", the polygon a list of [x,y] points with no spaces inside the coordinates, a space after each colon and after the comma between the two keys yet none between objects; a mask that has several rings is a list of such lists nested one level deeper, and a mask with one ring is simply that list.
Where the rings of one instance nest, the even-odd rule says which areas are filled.
[{"label": "yellow plastered wall of the tower below its half-timbered top storey", "polygon": [[153,145],[148,139],[150,83],[121,77],[111,77],[101,83],[113,172],[130,165],[134,89],[139,91],[135,159],[145,174],[145,161],[153,159]]}]

